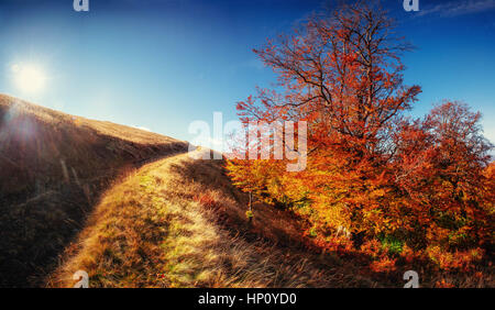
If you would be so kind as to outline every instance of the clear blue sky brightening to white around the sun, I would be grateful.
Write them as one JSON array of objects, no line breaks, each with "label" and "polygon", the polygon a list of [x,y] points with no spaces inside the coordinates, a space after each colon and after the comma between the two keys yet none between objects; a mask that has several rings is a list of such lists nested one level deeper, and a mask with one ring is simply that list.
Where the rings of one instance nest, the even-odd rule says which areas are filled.
[{"label": "clear blue sky brightening to white around the sun", "polygon": [[[495,144],[495,0],[384,1],[417,48],[406,85],[422,87],[410,112],[443,99],[483,113]],[[328,0],[0,0],[0,92],[66,113],[191,141],[193,121],[235,120],[235,102],[275,76],[252,48]],[[25,87],[25,80],[31,80]],[[23,86],[24,85],[24,86]]]}]

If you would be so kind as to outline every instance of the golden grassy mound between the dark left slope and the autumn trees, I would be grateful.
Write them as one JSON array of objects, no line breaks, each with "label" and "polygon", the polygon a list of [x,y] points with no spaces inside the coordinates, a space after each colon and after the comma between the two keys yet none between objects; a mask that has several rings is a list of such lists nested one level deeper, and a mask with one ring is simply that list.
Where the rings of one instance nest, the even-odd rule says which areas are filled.
[{"label": "golden grassy mound between the dark left slope and the autumn trees", "polygon": [[377,286],[333,255],[302,246],[287,213],[255,206],[220,160],[187,154],[161,159],[108,190],[64,255],[50,287],[359,287]]}]

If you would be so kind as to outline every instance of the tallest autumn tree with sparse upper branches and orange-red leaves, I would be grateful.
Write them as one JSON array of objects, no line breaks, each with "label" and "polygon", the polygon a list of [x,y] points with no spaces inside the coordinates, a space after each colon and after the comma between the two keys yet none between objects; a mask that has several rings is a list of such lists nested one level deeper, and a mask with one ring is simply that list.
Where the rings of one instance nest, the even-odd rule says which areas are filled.
[{"label": "tallest autumn tree with sparse upper branches and orange-red leaves", "polygon": [[297,186],[294,176],[280,186],[315,201],[323,222],[332,224],[326,212],[339,213],[338,225],[356,233],[380,230],[384,221],[374,198],[384,195],[387,132],[420,92],[403,84],[399,55],[410,46],[393,29],[385,12],[366,2],[315,15],[254,49],[278,74],[278,85],[238,103],[245,123],[308,121],[311,165]]}]

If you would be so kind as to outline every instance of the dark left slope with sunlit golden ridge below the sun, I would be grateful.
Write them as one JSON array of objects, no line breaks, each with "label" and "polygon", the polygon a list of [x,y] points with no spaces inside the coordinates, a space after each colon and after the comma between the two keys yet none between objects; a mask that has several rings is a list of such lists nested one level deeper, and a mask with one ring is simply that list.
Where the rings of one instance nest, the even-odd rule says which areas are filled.
[{"label": "dark left slope with sunlit golden ridge below the sun", "polygon": [[187,143],[0,96],[0,287],[41,285],[116,177]]}]

